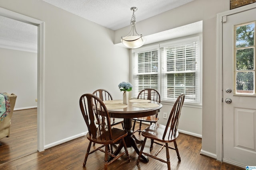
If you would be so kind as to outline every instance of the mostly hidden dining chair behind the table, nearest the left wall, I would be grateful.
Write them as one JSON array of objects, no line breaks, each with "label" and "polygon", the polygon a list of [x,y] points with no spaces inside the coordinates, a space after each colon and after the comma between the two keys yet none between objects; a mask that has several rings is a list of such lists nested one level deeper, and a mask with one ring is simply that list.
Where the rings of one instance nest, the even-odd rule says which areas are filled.
[{"label": "mostly hidden dining chair behind the table, nearest the left wall", "polygon": [[[98,98],[100,98],[102,101],[106,101],[106,100],[113,100],[112,95],[110,94],[110,92],[108,92],[105,89],[98,89],[95,90],[92,94],[94,94],[95,96],[97,96]],[[118,125],[118,124],[122,124],[122,128],[124,129],[124,119],[119,119],[119,118],[110,118],[110,123],[111,125]]]}]

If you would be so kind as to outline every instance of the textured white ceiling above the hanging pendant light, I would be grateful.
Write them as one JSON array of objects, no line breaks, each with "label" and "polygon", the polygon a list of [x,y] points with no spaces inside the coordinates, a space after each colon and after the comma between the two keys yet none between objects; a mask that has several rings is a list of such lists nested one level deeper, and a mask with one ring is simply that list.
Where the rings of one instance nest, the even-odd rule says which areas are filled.
[{"label": "textured white ceiling above the hanging pendant light", "polygon": [[131,7],[135,6],[136,21],[182,6],[193,0],[43,0],[98,23],[112,30],[130,25]]}]

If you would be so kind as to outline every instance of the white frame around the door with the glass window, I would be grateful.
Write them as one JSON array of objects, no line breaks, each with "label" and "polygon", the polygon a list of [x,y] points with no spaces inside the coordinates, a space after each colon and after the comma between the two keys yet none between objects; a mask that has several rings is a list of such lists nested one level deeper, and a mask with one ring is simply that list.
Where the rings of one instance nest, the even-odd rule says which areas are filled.
[{"label": "white frame around the door with the glass window", "polygon": [[[225,16],[230,16],[239,12],[244,12],[256,8],[256,3],[235,8],[226,12],[217,14],[217,105],[216,105],[216,155],[217,160],[223,161],[223,138],[222,138],[222,129],[223,129],[223,68],[222,68],[222,23],[226,22]],[[234,162],[228,162],[234,164]],[[240,164],[234,164],[236,166],[241,166]]]}]

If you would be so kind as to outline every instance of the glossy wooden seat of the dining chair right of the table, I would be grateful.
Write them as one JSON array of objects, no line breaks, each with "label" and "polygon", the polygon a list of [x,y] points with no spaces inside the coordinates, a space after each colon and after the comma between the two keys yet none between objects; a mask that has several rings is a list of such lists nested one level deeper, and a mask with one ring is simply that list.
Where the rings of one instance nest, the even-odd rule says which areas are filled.
[{"label": "glossy wooden seat of the dining chair right of the table", "polygon": [[170,132],[170,127],[168,128],[166,137],[163,139],[165,128],[166,128],[165,125],[154,123],[154,124],[148,126],[146,129],[144,129],[144,131],[142,131],[141,134],[142,134],[142,136],[144,136],[146,138],[154,139],[154,140],[164,142],[164,143],[169,143],[169,142],[176,140],[176,138],[179,135],[178,131],[176,131],[175,136],[172,135],[172,136],[168,137],[168,134],[172,133],[172,132]]}]

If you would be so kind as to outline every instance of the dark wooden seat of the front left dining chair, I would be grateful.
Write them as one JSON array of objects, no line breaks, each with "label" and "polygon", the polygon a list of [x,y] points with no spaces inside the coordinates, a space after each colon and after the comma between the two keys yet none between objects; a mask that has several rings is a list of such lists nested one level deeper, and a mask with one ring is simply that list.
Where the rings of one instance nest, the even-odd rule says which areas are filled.
[{"label": "dark wooden seat of the front left dining chair", "polygon": [[117,128],[111,127],[112,139],[110,139],[109,138],[110,135],[109,135],[108,127],[105,125],[104,128],[105,128],[104,130],[103,130],[102,126],[97,128],[96,137],[92,137],[90,135],[90,133],[87,133],[87,139],[89,141],[94,142],[94,143],[108,145],[108,144],[116,143],[117,141],[119,141],[123,137],[127,136],[126,131],[124,131],[122,129],[117,129]]}]

